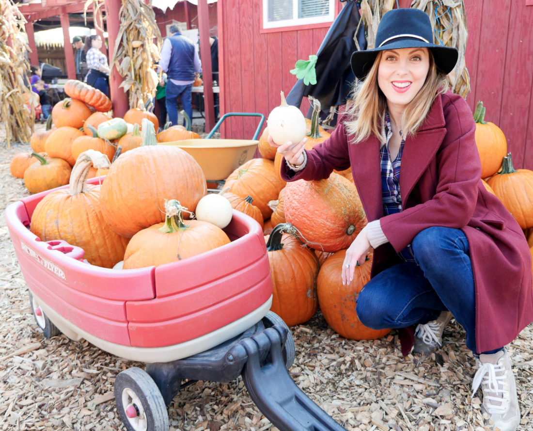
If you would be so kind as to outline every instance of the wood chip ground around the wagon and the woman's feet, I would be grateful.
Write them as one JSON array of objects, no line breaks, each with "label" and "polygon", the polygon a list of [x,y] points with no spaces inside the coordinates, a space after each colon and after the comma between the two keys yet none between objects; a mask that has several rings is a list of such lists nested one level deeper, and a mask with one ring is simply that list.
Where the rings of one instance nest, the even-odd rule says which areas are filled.
[{"label": "wood chip ground around the wagon and the woman's feet", "polygon": [[[41,125],[37,125],[39,127]],[[14,154],[0,135],[0,201],[28,195],[9,172]],[[124,430],[116,410],[116,375],[144,364],[112,356],[87,341],[65,336],[45,339],[35,323],[28,290],[0,218],[0,430]],[[444,346],[431,356],[402,357],[393,331],[375,341],[338,336],[318,312],[291,328],[296,384],[339,424],[351,431],[491,429],[478,397],[471,398],[475,362],[464,330],[454,320]],[[533,430],[533,325],[508,346],[514,362],[522,420]],[[478,393],[479,396],[479,393]],[[171,431],[276,430],[248,396],[242,379],[198,381],[182,389],[168,406]]]}]

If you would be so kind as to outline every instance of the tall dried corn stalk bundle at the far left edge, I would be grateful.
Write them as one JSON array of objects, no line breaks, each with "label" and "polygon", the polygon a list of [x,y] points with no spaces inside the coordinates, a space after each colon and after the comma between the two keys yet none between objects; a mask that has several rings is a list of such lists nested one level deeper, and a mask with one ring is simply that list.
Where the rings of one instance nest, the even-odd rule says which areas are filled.
[{"label": "tall dried corn stalk bundle at the far left edge", "polygon": [[[11,141],[29,142],[35,125],[35,110],[25,105],[32,100],[25,58],[26,20],[11,0],[0,0],[0,118],[4,122],[7,147]],[[31,104],[30,104],[31,106]]]}]

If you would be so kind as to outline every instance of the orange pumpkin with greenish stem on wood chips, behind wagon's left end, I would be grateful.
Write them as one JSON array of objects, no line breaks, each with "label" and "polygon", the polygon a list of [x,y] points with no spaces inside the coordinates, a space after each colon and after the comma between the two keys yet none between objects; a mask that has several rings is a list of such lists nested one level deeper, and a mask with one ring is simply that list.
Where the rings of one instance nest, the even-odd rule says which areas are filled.
[{"label": "orange pumpkin with greenish stem on wood chips, behind wagon's left end", "polygon": [[38,162],[28,166],[24,171],[24,185],[31,193],[40,193],[68,184],[72,168],[66,160],[46,159],[38,153],[31,155],[38,159]]}]

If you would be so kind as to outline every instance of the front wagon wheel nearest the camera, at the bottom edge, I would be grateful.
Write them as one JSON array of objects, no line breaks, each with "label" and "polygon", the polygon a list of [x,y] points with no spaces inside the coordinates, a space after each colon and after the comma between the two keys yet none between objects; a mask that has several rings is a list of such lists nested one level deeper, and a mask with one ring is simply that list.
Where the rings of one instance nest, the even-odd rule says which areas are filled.
[{"label": "front wagon wheel nearest the camera, at the bottom edge", "polygon": [[163,395],[146,371],[132,367],[118,373],[115,401],[128,431],[168,431]]}]

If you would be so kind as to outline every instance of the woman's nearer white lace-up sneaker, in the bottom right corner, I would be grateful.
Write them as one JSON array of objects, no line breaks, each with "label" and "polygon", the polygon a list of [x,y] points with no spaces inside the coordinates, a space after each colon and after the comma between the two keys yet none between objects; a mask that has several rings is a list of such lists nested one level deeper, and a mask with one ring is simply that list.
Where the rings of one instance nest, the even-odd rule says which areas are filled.
[{"label": "woman's nearer white lace-up sneaker, in the bottom right corner", "polygon": [[479,370],[472,381],[472,397],[481,385],[482,411],[486,411],[500,431],[514,431],[520,424],[520,408],[511,359],[507,350],[479,355]]}]

